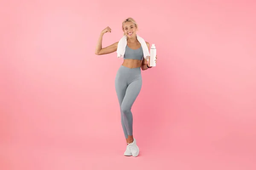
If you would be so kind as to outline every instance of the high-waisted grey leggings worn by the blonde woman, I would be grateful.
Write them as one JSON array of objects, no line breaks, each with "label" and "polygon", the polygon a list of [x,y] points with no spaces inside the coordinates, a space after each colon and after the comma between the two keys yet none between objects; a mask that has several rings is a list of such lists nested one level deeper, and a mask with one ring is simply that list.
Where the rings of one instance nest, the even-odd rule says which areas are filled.
[{"label": "high-waisted grey leggings worn by the blonde woman", "polygon": [[133,135],[131,107],[140,93],[141,86],[142,77],[140,67],[128,68],[121,65],[116,74],[115,88],[120,105],[122,128],[126,139],[128,135]]}]

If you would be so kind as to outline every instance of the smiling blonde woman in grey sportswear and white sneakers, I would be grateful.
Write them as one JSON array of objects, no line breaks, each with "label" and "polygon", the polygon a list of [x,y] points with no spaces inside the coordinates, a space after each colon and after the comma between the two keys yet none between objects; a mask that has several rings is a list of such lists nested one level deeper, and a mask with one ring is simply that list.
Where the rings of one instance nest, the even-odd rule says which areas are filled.
[{"label": "smiling blonde woman in grey sportswear and white sneakers", "polygon": [[[148,62],[145,58],[143,58],[142,45],[137,40],[137,23],[132,18],[128,18],[123,21],[122,30],[124,31],[124,35],[127,36],[127,45],[125,48],[125,54],[123,56],[124,62],[116,74],[115,88],[121,111],[122,128],[127,143],[124,155],[138,156],[139,147],[137,146],[136,139],[133,137],[133,116],[131,113],[131,107],[139,95],[142,86],[140,68],[142,70],[151,68],[149,66],[150,59]],[[109,54],[117,50],[118,42],[102,48],[102,37],[107,32],[111,32],[111,28],[107,27],[101,32],[95,50],[95,54],[97,55]],[[146,42],[146,45],[149,51],[149,43]],[[157,60],[155,60],[155,62],[157,62]]]}]

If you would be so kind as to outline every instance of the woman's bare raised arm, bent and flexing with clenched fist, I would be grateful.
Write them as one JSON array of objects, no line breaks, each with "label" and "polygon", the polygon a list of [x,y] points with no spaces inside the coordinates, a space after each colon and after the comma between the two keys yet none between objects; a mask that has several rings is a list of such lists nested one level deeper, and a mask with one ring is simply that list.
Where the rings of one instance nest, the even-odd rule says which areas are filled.
[{"label": "woman's bare raised arm, bent and flexing with clenched fist", "polygon": [[100,33],[99,40],[97,42],[97,46],[96,46],[96,49],[95,49],[95,54],[96,55],[109,54],[109,53],[113,53],[117,50],[118,42],[115,42],[112,45],[109,45],[105,48],[102,48],[102,37],[107,32],[111,32],[111,28],[107,27]]}]

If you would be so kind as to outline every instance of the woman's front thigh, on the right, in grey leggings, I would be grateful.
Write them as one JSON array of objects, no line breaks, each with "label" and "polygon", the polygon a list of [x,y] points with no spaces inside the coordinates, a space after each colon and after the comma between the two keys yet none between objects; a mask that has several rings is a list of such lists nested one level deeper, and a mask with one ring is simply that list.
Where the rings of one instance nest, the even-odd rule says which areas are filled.
[{"label": "woman's front thigh, on the right, in grey leggings", "polygon": [[137,96],[140,94],[141,87],[142,87],[142,79],[137,79],[128,85],[125,92],[125,97],[122,101],[123,109],[131,109]]}]

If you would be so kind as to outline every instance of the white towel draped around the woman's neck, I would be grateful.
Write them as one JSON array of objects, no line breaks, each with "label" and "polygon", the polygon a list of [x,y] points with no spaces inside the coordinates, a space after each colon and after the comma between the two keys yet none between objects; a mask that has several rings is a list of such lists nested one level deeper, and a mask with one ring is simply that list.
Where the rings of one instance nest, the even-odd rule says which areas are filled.
[{"label": "white towel draped around the woman's neck", "polygon": [[[144,58],[148,61],[148,58],[149,58],[149,56],[150,56],[149,51],[148,51],[148,46],[147,46],[145,40],[144,40],[142,37],[140,37],[140,36],[138,36],[138,35],[136,35],[136,37],[137,37],[137,40],[138,40],[138,41],[140,42],[140,44],[141,44],[141,47],[142,47],[142,50],[143,50],[143,56],[144,56]],[[121,40],[118,42],[117,50],[116,50],[116,53],[117,53],[117,57],[118,57],[118,58],[123,58],[124,55],[125,55],[125,47],[126,47],[126,45],[127,45],[127,38],[128,38],[128,37],[125,35],[125,36],[123,36],[123,37],[121,38]]]}]

